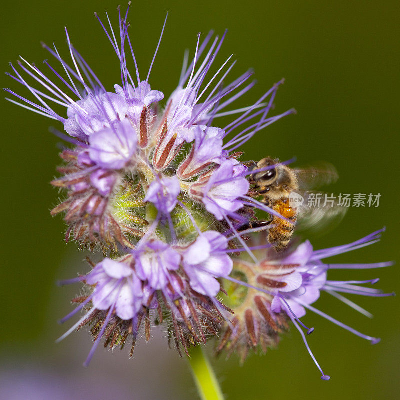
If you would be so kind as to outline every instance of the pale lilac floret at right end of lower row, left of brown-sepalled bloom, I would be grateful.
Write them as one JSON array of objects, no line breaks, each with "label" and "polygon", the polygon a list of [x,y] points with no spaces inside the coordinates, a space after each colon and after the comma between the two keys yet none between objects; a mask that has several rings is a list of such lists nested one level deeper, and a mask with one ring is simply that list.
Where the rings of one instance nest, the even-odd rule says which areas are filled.
[{"label": "pale lilac floret at right end of lower row, left of brown-sepalled bloom", "polygon": [[193,290],[210,297],[219,293],[220,284],[215,278],[228,276],[233,267],[226,247],[226,237],[209,230],[183,251],[183,268]]}]

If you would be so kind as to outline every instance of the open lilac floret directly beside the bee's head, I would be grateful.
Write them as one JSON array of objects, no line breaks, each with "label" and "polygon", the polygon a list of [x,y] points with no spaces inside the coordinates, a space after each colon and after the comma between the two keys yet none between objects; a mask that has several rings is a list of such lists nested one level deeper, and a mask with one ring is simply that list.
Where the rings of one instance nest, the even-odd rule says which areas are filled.
[{"label": "open lilac floret directly beside the bee's head", "polygon": [[226,215],[233,214],[243,207],[239,198],[245,195],[250,187],[248,180],[241,176],[245,167],[235,159],[227,159],[206,181],[193,183],[190,187],[190,194],[205,205],[208,212],[211,212],[219,220]]}]

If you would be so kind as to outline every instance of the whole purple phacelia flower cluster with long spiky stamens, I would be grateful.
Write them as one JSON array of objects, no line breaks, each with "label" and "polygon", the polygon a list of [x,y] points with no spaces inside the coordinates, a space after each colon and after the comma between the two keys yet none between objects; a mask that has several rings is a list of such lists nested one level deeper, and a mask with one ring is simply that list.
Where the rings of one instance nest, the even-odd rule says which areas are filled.
[{"label": "whole purple phacelia flower cluster with long spiky stamens", "polygon": [[[290,320],[305,340],[299,318],[311,310],[375,342],[311,304],[326,291],[360,310],[340,293],[381,295],[357,285],[366,282],[327,280],[334,266],[321,261],[370,244],[377,234],[320,251],[305,242],[278,256],[257,229],[240,230],[260,215],[279,216],[255,199],[248,180],[254,171],[239,161],[237,149],[293,113],[269,116],[282,81],[252,105],[225,111],[254,82],[252,72],[245,72],[225,84],[235,64],[231,57],[210,74],[225,38],[211,32],[203,41],[198,36],[190,63],[185,54],[177,88],[164,98],[149,83],[160,42],[145,78],[140,76],[127,15],[118,8],[114,29],[108,16],[106,27],[96,14],[120,66],[114,90],[103,86],[67,31],[71,63],[43,44],[57,69],[44,61],[44,72],[23,58],[20,69],[11,64],[9,75],[33,100],[5,89],[23,103],[10,101],[63,124],[65,133],[55,133],[69,145],[52,184],[64,197],[51,213],[63,214],[67,242],[103,254],[96,264],[88,260],[89,272],[64,282],[81,282],[82,289],[73,299],[76,308],[61,321],[81,311],[83,316],[60,339],[89,325],[94,344],[87,365],[101,340],[122,348],[129,339],[132,355],[139,332],[148,341],[151,326],[162,324],[179,353],[189,355],[190,346],[219,336],[217,352],[237,350],[245,357],[258,345],[264,351],[274,345]],[[238,116],[217,127],[218,117],[227,115]],[[254,235],[262,240],[249,246]]]}]

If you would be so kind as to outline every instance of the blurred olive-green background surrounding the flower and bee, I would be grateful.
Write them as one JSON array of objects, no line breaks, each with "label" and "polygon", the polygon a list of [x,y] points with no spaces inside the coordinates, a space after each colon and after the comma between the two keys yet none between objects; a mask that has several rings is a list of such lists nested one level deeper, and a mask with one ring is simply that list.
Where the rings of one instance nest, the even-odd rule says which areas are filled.
[{"label": "blurred olive-green background surrounding the flower and bee", "polygon": [[[74,45],[112,90],[120,80],[119,66],[93,11],[105,19],[107,10],[116,23],[117,5],[115,0],[3,2],[1,68],[10,71],[8,62],[19,54],[40,64],[49,57],[40,40],[54,41],[67,58],[66,25]],[[335,258],[376,262],[398,259],[399,8],[398,1],[134,1],[130,34],[144,74],[170,12],[150,78],[152,87],[166,96],[177,84],[184,49],[192,54],[197,33],[210,29],[229,29],[218,60],[222,63],[234,53],[238,62],[232,80],[248,67],[255,70],[258,84],[238,106],[254,101],[284,77],[275,111],[295,107],[298,114],[259,133],[244,146],[245,158],[295,155],[297,165],[327,160],[340,174],[332,191],[381,193],[378,208],[351,208],[326,235],[307,234],[315,248],[323,248],[385,225],[378,244]],[[18,88],[10,78],[3,79],[3,87]],[[61,398],[43,394],[46,379],[59,387],[56,382],[66,382],[64,394],[73,394],[65,398],[79,400],[120,395],[196,398],[187,363],[167,349],[162,332],[154,332],[147,345],[141,340],[132,360],[125,351],[108,354],[100,348],[87,369],[81,366],[91,346],[86,332],[54,344],[66,328],[56,320],[69,312],[69,298],[78,292],[77,286],[56,288],[54,282],[86,268],[84,254],[62,241],[61,218],[49,214],[58,195],[49,181],[59,164],[59,140],[47,131],[51,120],[6,101],[1,114],[1,382],[14,388],[33,382],[26,398],[36,398],[35,390],[41,393],[38,398]],[[397,266],[333,272],[330,276],[338,279],[379,276],[379,287],[399,291]],[[328,297],[321,297],[319,309],[382,341],[371,346],[309,314],[304,323],[315,326],[310,345],[331,380],[319,379],[299,334],[292,330],[277,350],[252,355],[242,367],[235,356],[213,362],[226,398],[398,398],[398,297],[356,298],[375,314],[373,320]]]}]

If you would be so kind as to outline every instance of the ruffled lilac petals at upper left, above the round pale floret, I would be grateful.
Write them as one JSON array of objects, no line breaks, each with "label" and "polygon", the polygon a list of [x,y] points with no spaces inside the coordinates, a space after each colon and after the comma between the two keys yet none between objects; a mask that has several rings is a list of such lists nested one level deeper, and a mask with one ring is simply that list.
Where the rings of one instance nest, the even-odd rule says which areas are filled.
[{"label": "ruffled lilac petals at upper left, above the round pale floret", "polygon": [[109,128],[114,121],[124,120],[127,110],[125,99],[115,93],[88,94],[68,107],[64,128],[71,136],[87,140],[94,132]]}]

